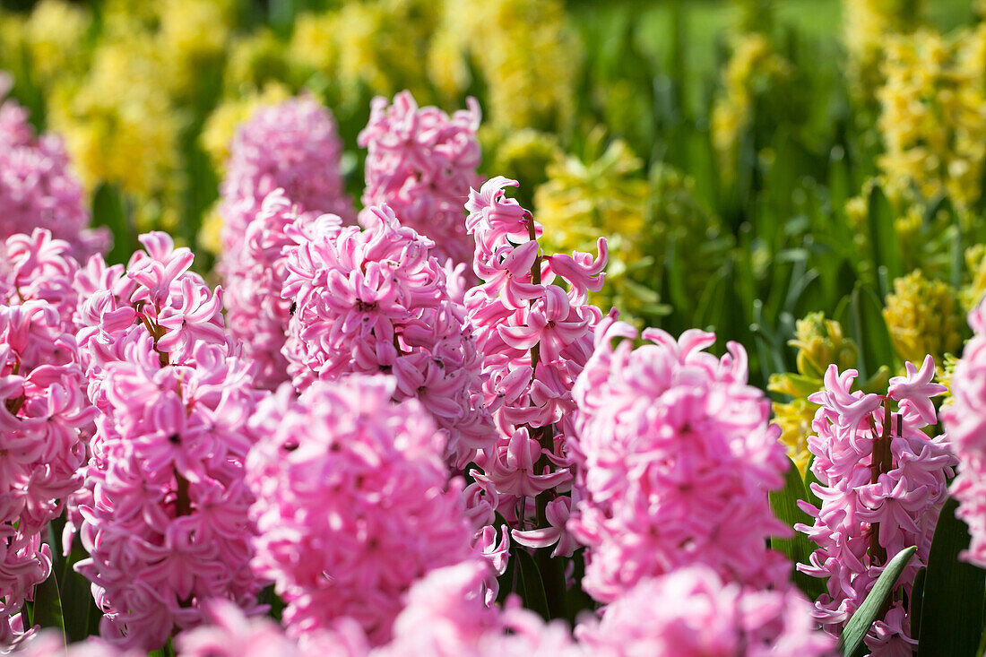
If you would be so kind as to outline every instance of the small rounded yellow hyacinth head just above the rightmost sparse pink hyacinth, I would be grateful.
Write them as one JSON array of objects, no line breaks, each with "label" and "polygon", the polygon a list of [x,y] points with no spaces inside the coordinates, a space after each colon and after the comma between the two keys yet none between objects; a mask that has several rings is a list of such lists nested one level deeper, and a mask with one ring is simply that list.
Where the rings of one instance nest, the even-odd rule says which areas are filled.
[{"label": "small rounded yellow hyacinth head just above the rightmost sparse pink hyacinth", "polygon": [[945,354],[962,345],[964,317],[955,291],[942,281],[929,280],[920,269],[893,281],[883,320],[902,360],[919,363],[931,354],[941,366]]}]

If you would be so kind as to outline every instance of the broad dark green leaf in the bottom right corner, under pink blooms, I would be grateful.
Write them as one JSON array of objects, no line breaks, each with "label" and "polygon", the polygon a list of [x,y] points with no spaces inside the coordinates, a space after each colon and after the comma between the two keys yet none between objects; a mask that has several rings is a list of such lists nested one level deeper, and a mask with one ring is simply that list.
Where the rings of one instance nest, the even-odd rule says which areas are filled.
[{"label": "broad dark green leaf in the bottom right corner, under pink blooms", "polygon": [[975,655],[982,632],[986,570],[958,560],[969,547],[965,523],[955,518],[951,497],[942,508],[928,555],[918,656]]}]

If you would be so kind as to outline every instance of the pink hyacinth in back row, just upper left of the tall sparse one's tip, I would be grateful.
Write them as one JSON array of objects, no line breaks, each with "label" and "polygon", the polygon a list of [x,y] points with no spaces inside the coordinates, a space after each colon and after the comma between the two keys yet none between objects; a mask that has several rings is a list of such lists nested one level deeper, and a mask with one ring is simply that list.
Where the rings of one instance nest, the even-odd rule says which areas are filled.
[{"label": "pink hyacinth in back row, just upper left of the tall sparse one's tip", "polygon": [[468,262],[473,243],[465,233],[462,204],[476,174],[480,148],[479,104],[468,99],[468,110],[452,117],[438,108],[421,108],[410,92],[375,98],[370,122],[358,143],[367,149],[367,207],[387,203],[400,223],[435,242],[440,260]]}]

